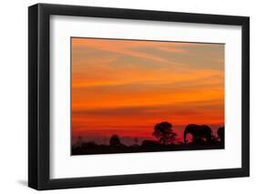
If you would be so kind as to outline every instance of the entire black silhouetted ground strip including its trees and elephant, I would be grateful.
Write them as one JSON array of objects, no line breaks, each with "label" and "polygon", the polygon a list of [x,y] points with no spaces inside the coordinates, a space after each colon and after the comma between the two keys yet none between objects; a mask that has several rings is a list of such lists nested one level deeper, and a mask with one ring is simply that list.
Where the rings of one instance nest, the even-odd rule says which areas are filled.
[{"label": "entire black silhouetted ground strip including its trees and elephant", "polygon": [[[191,136],[190,141],[187,139],[189,134]],[[177,141],[177,134],[171,123],[164,121],[155,125],[152,136],[157,140],[145,139],[138,145],[138,140],[135,139],[135,144],[131,146],[123,144],[118,134],[109,138],[108,145],[98,145],[93,141],[84,141],[83,138],[78,138],[77,142],[72,145],[71,154],[88,155],[224,148],[224,126],[219,128],[217,136],[214,136],[211,128],[207,125],[189,124],[184,129],[183,141]]]}]

